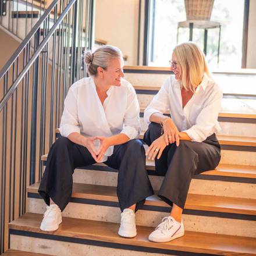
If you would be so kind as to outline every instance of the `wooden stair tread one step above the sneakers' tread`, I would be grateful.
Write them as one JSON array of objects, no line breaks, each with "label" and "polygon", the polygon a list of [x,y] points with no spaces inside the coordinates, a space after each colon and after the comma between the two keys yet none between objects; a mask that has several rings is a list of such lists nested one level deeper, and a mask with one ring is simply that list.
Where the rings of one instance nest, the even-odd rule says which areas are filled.
[{"label": "wooden stair tread one step above the sneakers' tread", "polygon": [[[27,192],[38,193],[39,184],[37,182],[27,187]],[[116,187],[113,186],[73,183],[72,197],[118,202]],[[146,200],[145,205],[169,207],[162,200]],[[217,195],[188,194],[185,209],[256,215],[256,200]]]}]

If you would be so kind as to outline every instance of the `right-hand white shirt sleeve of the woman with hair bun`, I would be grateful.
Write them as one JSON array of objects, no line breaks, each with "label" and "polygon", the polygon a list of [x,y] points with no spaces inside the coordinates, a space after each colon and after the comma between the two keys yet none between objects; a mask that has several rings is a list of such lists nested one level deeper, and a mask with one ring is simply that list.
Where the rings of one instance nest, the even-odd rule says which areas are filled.
[{"label": "right-hand white shirt sleeve of the woman with hair bun", "polygon": [[130,85],[127,94],[127,106],[121,133],[126,134],[132,140],[138,137],[141,131],[140,127],[140,105],[134,88]]}]

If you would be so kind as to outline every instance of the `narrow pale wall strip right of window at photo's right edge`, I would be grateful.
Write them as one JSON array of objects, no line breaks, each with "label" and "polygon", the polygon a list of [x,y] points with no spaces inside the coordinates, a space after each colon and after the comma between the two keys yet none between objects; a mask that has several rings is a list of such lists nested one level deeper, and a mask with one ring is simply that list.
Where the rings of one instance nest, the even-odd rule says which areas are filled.
[{"label": "narrow pale wall strip right of window at photo's right edge", "polygon": [[256,0],[250,0],[246,64],[247,69],[256,69]]}]

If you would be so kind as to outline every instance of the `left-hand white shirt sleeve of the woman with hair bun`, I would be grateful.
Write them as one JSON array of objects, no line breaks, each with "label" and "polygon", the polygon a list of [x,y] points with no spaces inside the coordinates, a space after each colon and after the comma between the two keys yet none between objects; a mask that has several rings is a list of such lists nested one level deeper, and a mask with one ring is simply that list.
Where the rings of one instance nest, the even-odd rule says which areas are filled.
[{"label": "left-hand white shirt sleeve of the woman with hair bun", "polygon": [[64,110],[62,113],[59,130],[61,132],[61,136],[63,137],[67,137],[70,133],[74,132],[80,134],[80,127],[77,116],[77,98],[72,87],[70,87],[64,101]]}]

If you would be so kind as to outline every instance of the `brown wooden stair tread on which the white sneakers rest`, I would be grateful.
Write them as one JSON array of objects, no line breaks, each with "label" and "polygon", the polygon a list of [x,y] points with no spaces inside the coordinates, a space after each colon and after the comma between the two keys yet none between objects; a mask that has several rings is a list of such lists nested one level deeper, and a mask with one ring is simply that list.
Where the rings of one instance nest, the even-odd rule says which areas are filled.
[{"label": "brown wooden stair tread on which the white sneakers rest", "polygon": [[191,253],[211,253],[221,255],[255,254],[255,239],[251,237],[227,236],[200,232],[185,232],[183,237],[168,243],[148,241],[152,227],[137,226],[137,236],[126,239],[118,236],[118,223],[89,221],[63,217],[59,229],[55,232],[40,230],[42,215],[26,213],[9,224],[10,229],[72,237],[94,241],[104,241],[127,246],[142,246],[165,250],[187,251]]}]

